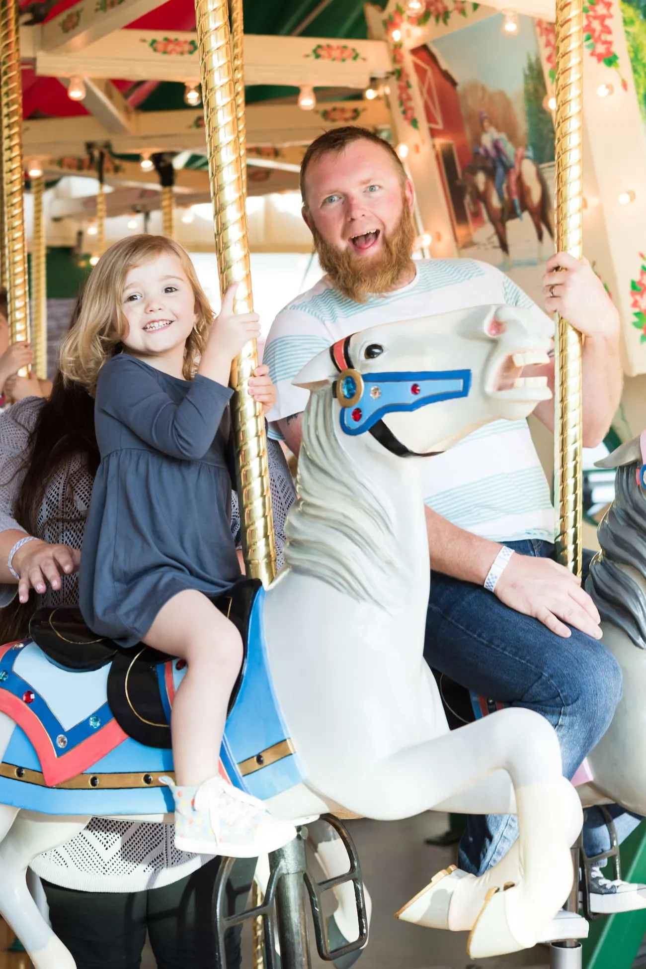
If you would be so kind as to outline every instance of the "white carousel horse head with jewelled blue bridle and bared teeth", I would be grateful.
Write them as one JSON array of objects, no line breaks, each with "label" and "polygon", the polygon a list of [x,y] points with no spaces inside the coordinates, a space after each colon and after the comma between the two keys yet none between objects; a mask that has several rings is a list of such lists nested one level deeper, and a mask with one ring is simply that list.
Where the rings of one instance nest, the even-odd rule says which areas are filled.
[{"label": "white carousel horse head with jewelled blue bridle and bared teeth", "polygon": [[551,335],[536,310],[476,306],[354,333],[293,383],[312,398],[331,390],[344,435],[369,432],[387,452],[427,456],[481,424],[525,418],[549,399],[545,377],[521,372],[548,362]]}]

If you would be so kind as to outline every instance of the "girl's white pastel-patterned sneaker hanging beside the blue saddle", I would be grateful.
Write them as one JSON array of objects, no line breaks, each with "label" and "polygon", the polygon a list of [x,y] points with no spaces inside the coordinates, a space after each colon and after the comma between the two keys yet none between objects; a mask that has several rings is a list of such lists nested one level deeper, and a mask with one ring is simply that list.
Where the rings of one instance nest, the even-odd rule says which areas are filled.
[{"label": "girl's white pastel-patterned sneaker hanging beside the blue saddle", "polygon": [[196,855],[257,858],[283,848],[296,836],[289,821],[273,818],[258,797],[245,794],[220,776],[200,787],[177,787],[169,777],[175,801],[175,848]]}]

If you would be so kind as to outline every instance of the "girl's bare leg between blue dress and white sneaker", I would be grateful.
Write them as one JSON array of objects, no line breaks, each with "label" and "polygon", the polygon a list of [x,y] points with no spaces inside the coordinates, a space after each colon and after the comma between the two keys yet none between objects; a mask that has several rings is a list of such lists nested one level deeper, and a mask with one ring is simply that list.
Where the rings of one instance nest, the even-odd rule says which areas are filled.
[{"label": "girl's bare leg between blue dress and white sneaker", "polygon": [[187,662],[172,704],[172,756],[177,784],[198,787],[218,773],[227,707],[242,665],[240,634],[206,596],[187,589],[159,611],[143,641]]}]

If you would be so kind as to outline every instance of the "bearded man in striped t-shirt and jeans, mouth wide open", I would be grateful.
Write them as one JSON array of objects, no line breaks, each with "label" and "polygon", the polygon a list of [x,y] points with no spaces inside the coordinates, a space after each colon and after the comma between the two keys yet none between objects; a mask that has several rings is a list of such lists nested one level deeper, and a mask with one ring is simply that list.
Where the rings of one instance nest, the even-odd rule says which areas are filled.
[{"label": "bearded man in striped t-shirt and jeans, mouth wide open", "polygon": [[[382,323],[490,303],[522,306],[545,319],[493,266],[468,259],[414,262],[413,185],[396,152],[371,132],[337,128],[314,141],[300,187],[325,275],[278,314],[264,351],[277,391],[270,432],[294,454],[308,392],[292,387],[292,378],[337,340]],[[621,397],[619,316],[585,261],[560,254],[546,269],[545,309],[562,313],[585,335],[583,442],[594,447]],[[503,386],[521,372],[547,376],[553,389],[553,361],[512,367]],[[535,414],[553,429],[550,401],[539,403]],[[545,716],[571,777],[610,724],[621,672],[600,642],[591,598],[554,561],[554,510],[527,422],[479,428],[428,460],[424,482],[432,568],[425,658],[477,694]],[[625,836],[637,822],[614,813]],[[460,867],[481,874],[515,836],[514,818],[471,818]],[[589,812],[585,846],[588,855],[609,848],[599,809]],[[622,910],[637,888],[595,872],[600,910]]]}]

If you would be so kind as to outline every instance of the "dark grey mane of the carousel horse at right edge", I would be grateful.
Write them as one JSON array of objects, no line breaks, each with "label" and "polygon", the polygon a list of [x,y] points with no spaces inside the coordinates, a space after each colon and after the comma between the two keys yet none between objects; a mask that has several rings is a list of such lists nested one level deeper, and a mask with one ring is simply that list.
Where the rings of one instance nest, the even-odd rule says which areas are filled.
[{"label": "dark grey mane of the carousel horse at right edge", "polygon": [[615,500],[599,526],[601,551],[593,559],[586,590],[601,619],[646,649],[646,596],[631,576],[634,570],[646,580],[646,498],[635,480],[636,467],[631,463],[617,469]]}]

